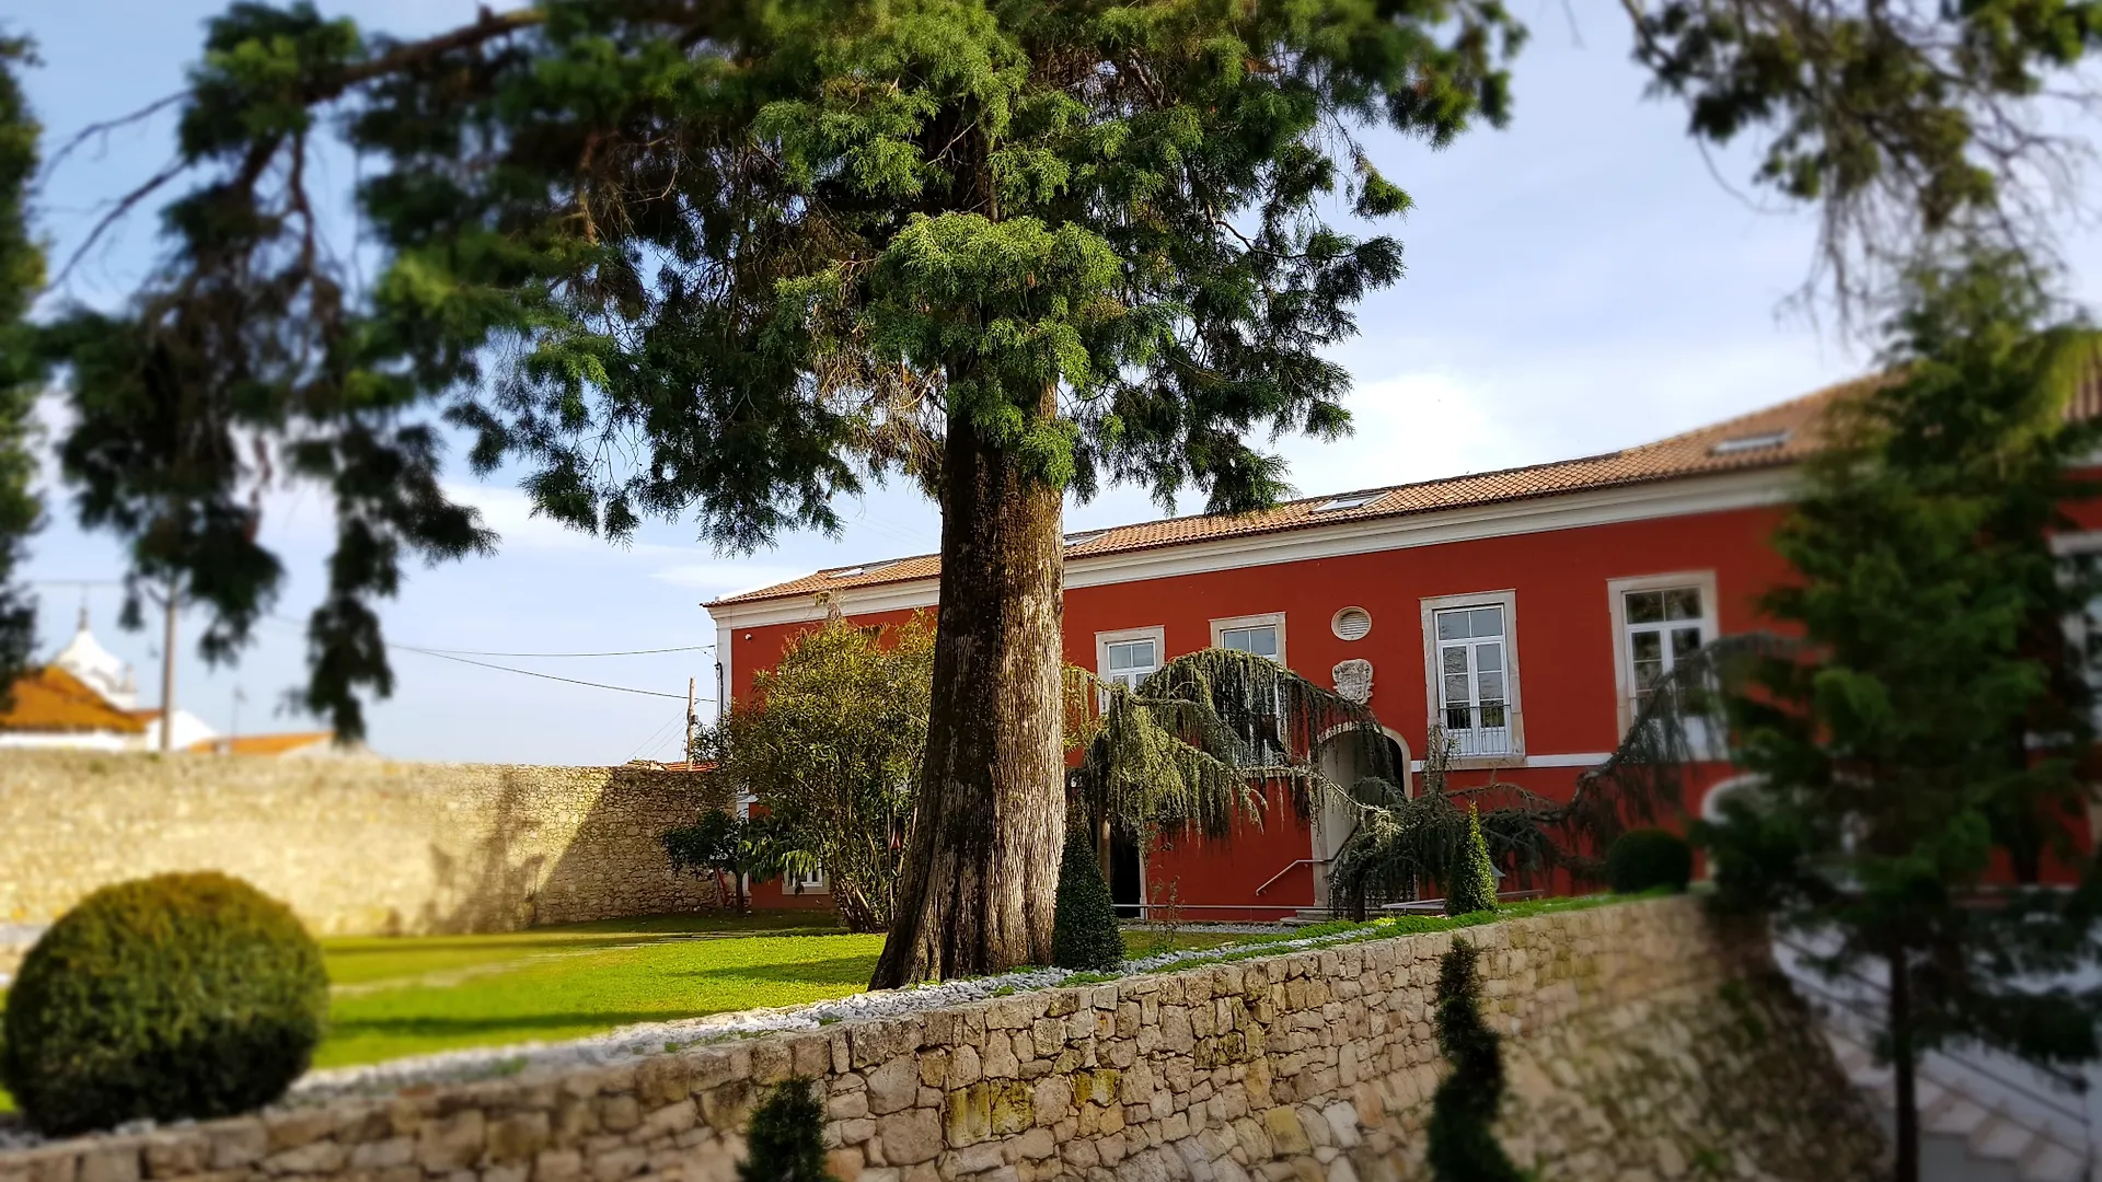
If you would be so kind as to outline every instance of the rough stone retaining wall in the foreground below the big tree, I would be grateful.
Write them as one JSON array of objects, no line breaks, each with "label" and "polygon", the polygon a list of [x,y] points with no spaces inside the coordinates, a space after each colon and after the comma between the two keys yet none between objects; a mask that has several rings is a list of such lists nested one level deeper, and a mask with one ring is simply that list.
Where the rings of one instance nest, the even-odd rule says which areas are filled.
[{"label": "rough stone retaining wall in the foreground below the big tree", "polygon": [[[1484,949],[1499,1132],[1558,1182],[1871,1178],[1881,1153],[1755,936],[1692,900],[1518,919]],[[0,1182],[729,1180],[816,1079],[843,1182],[1423,1178],[1450,936],[998,997],[633,1064],[0,1153]]]}]

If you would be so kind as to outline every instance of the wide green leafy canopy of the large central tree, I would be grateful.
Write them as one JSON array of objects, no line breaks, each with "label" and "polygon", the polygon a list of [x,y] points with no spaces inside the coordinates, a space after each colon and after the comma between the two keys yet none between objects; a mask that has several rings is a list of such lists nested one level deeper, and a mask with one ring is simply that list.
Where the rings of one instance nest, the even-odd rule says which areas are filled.
[{"label": "wide green leafy canopy of the large central tree", "polygon": [[[343,734],[391,686],[370,604],[401,562],[492,541],[435,484],[439,416],[477,471],[526,465],[536,509],[614,538],[832,530],[950,440],[1078,496],[1263,505],[1282,461],[1244,440],[1347,429],[1328,349],[1402,273],[1398,242],[1324,221],[1408,206],[1358,137],[1501,124],[1520,38],[1497,0],[584,0],[420,42],[235,4],[177,168],[135,193],[195,181],[166,265],[55,337],[67,471],[214,644],[277,587],[233,513],[263,469],[223,444],[256,433],[326,488],[305,696]],[[366,286],[311,215],[328,135],[364,162]],[[217,553],[244,562],[212,576]]]}]

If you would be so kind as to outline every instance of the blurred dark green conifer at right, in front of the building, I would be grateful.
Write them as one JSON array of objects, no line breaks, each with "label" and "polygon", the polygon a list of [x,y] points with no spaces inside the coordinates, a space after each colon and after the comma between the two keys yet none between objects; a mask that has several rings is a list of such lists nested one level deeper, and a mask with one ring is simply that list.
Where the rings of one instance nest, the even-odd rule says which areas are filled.
[{"label": "blurred dark green conifer at right, in front of the building", "polygon": [[[2037,1062],[2102,1049],[2102,991],[2037,986],[2102,955],[2077,820],[2096,803],[2077,772],[2094,650],[2066,644],[2068,620],[2096,635],[2102,580],[2052,549],[2064,505],[2096,494],[2079,465],[2098,425],[2066,410],[2102,341],[2047,318],[2022,259],[1911,276],[1888,379],[1831,414],[1774,538],[1795,576],[1764,608],[1806,644],[1724,684],[1715,728],[1757,789],[1694,827],[1719,906],[1816,934],[1827,974],[1894,982],[1900,1075],[1946,1039]],[[2047,858],[2081,888],[2031,885]],[[2022,885],[1988,888],[1995,864]]]}]

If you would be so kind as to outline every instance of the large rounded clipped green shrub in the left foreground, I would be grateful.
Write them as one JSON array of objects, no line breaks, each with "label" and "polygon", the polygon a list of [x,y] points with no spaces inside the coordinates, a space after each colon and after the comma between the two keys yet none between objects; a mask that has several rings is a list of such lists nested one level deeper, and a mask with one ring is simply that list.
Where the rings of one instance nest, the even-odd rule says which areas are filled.
[{"label": "large rounded clipped green shrub in the left foreground", "polygon": [[78,1134],[263,1106],[328,1020],[322,949],[292,911],[219,875],[107,885],[44,932],[0,1028],[0,1081],[34,1127]]}]

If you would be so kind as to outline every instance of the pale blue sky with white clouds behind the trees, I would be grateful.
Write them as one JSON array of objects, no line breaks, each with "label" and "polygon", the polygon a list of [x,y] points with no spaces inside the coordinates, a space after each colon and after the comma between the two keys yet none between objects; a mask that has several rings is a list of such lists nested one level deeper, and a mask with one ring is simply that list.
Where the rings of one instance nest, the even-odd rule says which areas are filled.
[{"label": "pale blue sky with white clouds behind the trees", "polygon": [[[471,0],[324,0],[366,27],[416,34],[473,19]],[[44,67],[27,80],[53,137],[137,109],[179,88],[202,21],[198,0],[0,0],[0,27],[32,34]],[[1829,326],[1782,311],[1804,280],[1812,221],[1761,212],[1726,191],[1684,135],[1684,114],[1644,97],[1629,63],[1625,19],[1606,4],[1520,0],[1534,38],[1516,63],[1509,130],[1478,130],[1450,149],[1375,137],[1383,172],[1417,208],[1394,231],[1406,278],[1360,307],[1360,339],[1337,349],[1356,376],[1358,433],[1339,444],[1282,440],[1301,492],[1337,492],[1612,450],[1696,427],[1852,376],[1869,355]],[[151,175],[170,145],[170,120],[107,137],[57,172],[42,225],[63,257],[97,204]],[[1732,183],[1749,168],[1722,154]],[[347,183],[347,170],[336,179]],[[97,250],[61,297],[114,303],[151,259],[151,221],[137,219]],[[2089,305],[2102,276],[2102,236],[2066,240]],[[57,406],[46,406],[57,423]],[[713,644],[700,602],[818,566],[927,553],[935,509],[906,488],[845,505],[839,538],[795,534],[750,555],[719,555],[685,524],[650,524],[635,545],[610,547],[530,513],[504,480],[477,484],[462,465],[456,494],[502,534],[502,553],[414,570],[385,608],[389,639],[498,652],[605,652]],[[118,578],[122,553],[84,534],[69,494],[46,488],[48,528],[34,541],[29,578]],[[1186,505],[1194,509],[1194,505]],[[1154,515],[1131,488],[1068,513],[1068,528]],[[288,490],[265,509],[265,541],[290,578],[256,646],[238,667],[206,669],[183,646],[177,698],[221,730],[288,730],[311,719],[275,709],[303,677],[298,620],[320,591],[328,511]],[[82,591],[46,583],[42,646],[63,644]],[[158,684],[151,633],[116,627],[118,591],[86,591],[97,633]],[[195,635],[195,625],[187,625]],[[687,677],[713,684],[710,652],[628,658],[490,658],[614,686],[681,696]],[[393,698],[370,709],[370,742],[410,759],[618,763],[677,757],[683,700],[591,690],[395,654]],[[153,692],[147,692],[153,698]],[[708,707],[702,707],[704,715]]]}]

